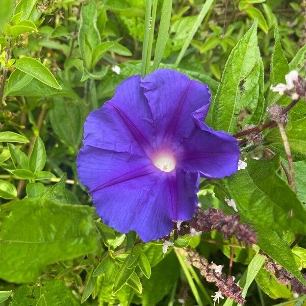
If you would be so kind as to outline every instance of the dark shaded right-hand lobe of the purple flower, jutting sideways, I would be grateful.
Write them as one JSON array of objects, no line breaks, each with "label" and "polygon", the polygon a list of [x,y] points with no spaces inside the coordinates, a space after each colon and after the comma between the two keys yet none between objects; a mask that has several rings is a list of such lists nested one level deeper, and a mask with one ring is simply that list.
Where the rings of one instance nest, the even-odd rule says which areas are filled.
[{"label": "dark shaded right-hand lobe of the purple flower, jutting sideways", "polygon": [[238,170],[241,155],[236,138],[214,131],[198,121],[193,132],[176,148],[177,166],[185,171],[199,171],[202,177],[221,178]]}]

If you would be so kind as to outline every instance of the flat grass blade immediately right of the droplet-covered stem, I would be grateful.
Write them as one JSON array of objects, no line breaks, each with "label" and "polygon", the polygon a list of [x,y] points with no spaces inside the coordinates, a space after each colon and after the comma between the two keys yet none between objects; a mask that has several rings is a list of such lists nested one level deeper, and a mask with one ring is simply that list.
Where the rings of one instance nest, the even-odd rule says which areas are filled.
[{"label": "flat grass blade immediately right of the droplet-covered stem", "polygon": [[153,70],[156,70],[160,65],[164,52],[166,43],[169,37],[169,26],[172,11],[172,0],[166,0],[163,2],[161,21],[158,30],[158,36],[156,41]]}]

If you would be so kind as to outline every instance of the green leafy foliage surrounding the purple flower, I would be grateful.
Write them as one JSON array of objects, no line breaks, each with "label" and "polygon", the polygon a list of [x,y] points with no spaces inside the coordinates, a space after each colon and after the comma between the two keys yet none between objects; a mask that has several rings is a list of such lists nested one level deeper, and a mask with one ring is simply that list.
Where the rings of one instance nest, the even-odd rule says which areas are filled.
[{"label": "green leafy foliage surrounding the purple flower", "polygon": [[[159,25],[165,9],[159,1],[153,49],[163,56],[161,66],[209,84],[215,100],[208,123],[235,134],[247,123],[265,122],[269,105],[290,103],[270,85],[284,83],[292,69],[305,77],[306,2],[207,1],[181,55],[204,3],[173,1],[162,52],[156,39],[168,29]],[[145,7],[144,0],[3,0],[0,304],[179,305],[183,298],[186,305],[212,304],[216,288],[173,248],[163,257],[163,242],[143,244],[133,232],[122,235],[100,223],[75,172],[87,114],[123,79],[140,73]],[[117,65],[119,74],[112,69]],[[245,170],[201,183],[202,208],[233,214],[223,198],[234,198],[242,220],[258,231],[258,246],[245,248],[215,232],[175,242],[196,247],[237,280],[244,275],[248,305],[305,300],[278,284],[255,256],[261,248],[299,279],[306,267],[305,239],[289,247],[295,234],[306,232],[305,114],[301,101],[287,126],[297,195],[279,170],[286,155],[277,129],[266,132],[262,144],[244,147]]]}]

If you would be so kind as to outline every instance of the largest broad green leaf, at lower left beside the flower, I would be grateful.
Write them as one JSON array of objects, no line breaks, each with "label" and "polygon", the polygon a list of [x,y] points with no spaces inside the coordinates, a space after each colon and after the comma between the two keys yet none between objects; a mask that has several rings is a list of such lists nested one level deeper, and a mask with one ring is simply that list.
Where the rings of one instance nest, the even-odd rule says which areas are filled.
[{"label": "largest broad green leaf, at lower left beside the flower", "polygon": [[45,265],[92,252],[92,214],[87,206],[46,199],[14,202],[0,232],[0,277],[13,283],[34,282]]}]

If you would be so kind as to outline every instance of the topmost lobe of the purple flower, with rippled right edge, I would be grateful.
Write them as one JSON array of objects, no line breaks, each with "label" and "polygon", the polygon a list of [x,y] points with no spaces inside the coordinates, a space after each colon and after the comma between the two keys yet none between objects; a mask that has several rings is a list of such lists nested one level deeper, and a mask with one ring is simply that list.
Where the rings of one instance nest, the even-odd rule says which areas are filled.
[{"label": "topmost lobe of the purple flower, with rippled right edge", "polygon": [[208,86],[190,81],[183,73],[159,69],[148,74],[141,86],[155,120],[158,145],[179,142],[189,135],[194,112],[199,119],[207,115],[211,99]]}]

